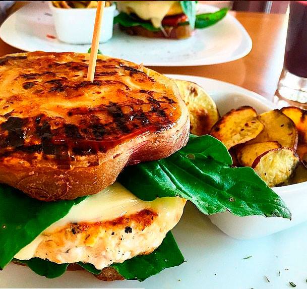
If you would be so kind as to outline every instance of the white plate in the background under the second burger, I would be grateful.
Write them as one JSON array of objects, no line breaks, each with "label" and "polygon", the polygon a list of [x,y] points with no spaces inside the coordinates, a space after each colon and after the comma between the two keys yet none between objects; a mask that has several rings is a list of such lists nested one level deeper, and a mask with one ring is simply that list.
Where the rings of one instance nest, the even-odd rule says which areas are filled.
[{"label": "white plate in the background under the second burger", "polygon": [[[201,13],[215,8],[200,5]],[[76,20],[78,21],[78,19]],[[0,37],[25,51],[87,52],[89,45],[73,45],[48,38],[56,36],[47,3],[33,2],[10,16],[0,28]],[[231,15],[216,25],[195,31],[184,40],[150,39],[129,36],[117,28],[113,38],[100,45],[105,55],[146,66],[196,66],[233,61],[247,55],[252,40]]]}]

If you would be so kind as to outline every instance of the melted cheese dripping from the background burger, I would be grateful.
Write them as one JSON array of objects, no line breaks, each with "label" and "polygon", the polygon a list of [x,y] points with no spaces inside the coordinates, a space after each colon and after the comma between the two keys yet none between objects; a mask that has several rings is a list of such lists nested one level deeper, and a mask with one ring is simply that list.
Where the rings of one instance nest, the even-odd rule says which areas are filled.
[{"label": "melted cheese dripping from the background burger", "polygon": [[179,1],[117,1],[117,9],[127,14],[135,13],[144,20],[150,20],[155,28],[161,27],[166,15],[182,13]]}]

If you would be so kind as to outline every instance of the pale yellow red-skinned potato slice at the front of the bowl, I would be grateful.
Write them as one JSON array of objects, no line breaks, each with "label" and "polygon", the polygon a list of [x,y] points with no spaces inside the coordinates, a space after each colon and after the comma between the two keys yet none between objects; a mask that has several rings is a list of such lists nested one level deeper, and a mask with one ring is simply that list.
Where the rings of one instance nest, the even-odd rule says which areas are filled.
[{"label": "pale yellow red-skinned potato slice at the front of the bowl", "polygon": [[269,150],[258,156],[252,164],[256,174],[269,187],[287,185],[300,163],[296,152],[290,148]]}]

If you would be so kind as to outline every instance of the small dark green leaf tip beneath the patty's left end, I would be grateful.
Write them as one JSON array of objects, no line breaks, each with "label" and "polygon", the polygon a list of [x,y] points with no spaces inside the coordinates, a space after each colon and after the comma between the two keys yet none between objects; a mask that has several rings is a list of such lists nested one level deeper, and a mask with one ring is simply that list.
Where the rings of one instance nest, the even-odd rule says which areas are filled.
[{"label": "small dark green leaf tip beneath the patty's left end", "polygon": [[30,260],[17,260],[15,262],[26,264],[33,272],[40,276],[52,279],[63,275],[68,267],[68,263],[56,264],[40,258],[32,258]]}]

